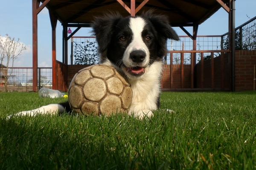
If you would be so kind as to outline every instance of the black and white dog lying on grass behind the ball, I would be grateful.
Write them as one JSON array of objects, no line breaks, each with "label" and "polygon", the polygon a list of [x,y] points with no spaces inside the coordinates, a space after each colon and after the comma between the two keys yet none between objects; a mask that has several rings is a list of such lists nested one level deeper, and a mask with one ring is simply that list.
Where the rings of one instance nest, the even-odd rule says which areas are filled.
[{"label": "black and white dog lying on grass behind the ball", "polygon": [[[100,63],[122,72],[131,84],[133,99],[129,114],[151,116],[159,108],[163,56],[167,39],[179,40],[163,15],[152,11],[137,17],[111,13],[95,18],[93,33],[98,42]],[[63,113],[68,102],[51,104],[17,114]]]}]

